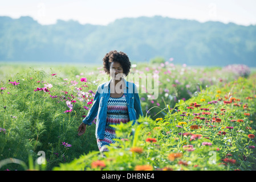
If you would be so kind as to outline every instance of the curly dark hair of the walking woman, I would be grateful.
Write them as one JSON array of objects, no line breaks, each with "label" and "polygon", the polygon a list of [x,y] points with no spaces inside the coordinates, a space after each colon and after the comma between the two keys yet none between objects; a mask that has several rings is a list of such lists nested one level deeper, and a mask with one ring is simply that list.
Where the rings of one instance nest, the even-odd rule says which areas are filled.
[{"label": "curly dark hair of the walking woman", "polygon": [[121,67],[123,68],[123,73],[127,76],[131,69],[131,62],[129,61],[129,57],[124,52],[117,52],[116,50],[108,52],[105,57],[103,58],[103,68],[104,71],[110,75],[110,64],[112,62],[120,63]]}]

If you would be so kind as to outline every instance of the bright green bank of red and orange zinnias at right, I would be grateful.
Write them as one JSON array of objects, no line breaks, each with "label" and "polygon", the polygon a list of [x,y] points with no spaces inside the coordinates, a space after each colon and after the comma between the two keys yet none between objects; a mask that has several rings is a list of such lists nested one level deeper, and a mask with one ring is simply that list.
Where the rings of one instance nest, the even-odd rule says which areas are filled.
[{"label": "bright green bank of red and orange zinnias at right", "polygon": [[[140,170],[255,170],[256,152],[249,148],[255,147],[255,138],[248,137],[249,134],[255,134],[256,129],[254,77],[250,80],[239,78],[224,88],[213,86],[202,90],[189,101],[181,101],[176,105],[180,110],[166,114],[164,118],[153,120],[141,117],[135,125],[117,125],[115,127],[119,139],[111,144],[109,152],[104,153],[105,157],[99,152],[92,152],[69,164],[61,164],[54,170],[129,171],[138,167]],[[254,97],[248,98],[246,90],[253,90],[250,96]],[[221,98],[210,103],[215,100],[215,93],[221,94]],[[222,97],[226,100],[235,97],[236,100],[224,104]],[[187,108],[191,103],[194,106],[195,102],[201,106]],[[239,102],[246,104],[248,109],[239,105]],[[247,112],[253,116],[247,117],[244,114]],[[185,117],[181,116],[182,113],[186,113]],[[193,115],[195,113],[201,113],[200,119]],[[221,118],[221,122],[215,118]],[[237,122],[238,119],[243,119],[243,122]],[[194,125],[200,127],[192,129]]]}]

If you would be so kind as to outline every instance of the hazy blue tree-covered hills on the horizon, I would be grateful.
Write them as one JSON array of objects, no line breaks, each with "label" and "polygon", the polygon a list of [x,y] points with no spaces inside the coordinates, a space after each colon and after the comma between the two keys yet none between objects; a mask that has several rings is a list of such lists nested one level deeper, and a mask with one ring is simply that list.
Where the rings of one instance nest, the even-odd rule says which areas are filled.
[{"label": "hazy blue tree-covered hills on the horizon", "polygon": [[256,66],[256,26],[162,16],[123,18],[107,26],[58,20],[43,26],[29,16],[0,16],[0,61],[100,63],[112,49],[135,62],[153,57],[188,65]]}]

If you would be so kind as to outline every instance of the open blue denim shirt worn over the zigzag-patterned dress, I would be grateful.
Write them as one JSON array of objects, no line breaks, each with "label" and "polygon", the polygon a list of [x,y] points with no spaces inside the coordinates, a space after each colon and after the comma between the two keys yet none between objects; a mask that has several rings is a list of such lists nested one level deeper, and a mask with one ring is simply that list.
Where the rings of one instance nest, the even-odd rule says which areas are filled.
[{"label": "open blue denim shirt worn over the zigzag-patterned dress", "polygon": [[[140,115],[143,117],[139,94],[134,83],[126,81],[124,78],[123,80],[124,85],[126,85],[124,86],[124,95],[127,101],[129,119],[130,121],[133,121],[134,124]],[[110,97],[110,82],[111,80],[98,86],[92,107],[86,118],[83,119],[83,123],[91,125],[92,121],[94,121],[97,116],[95,131],[97,139],[104,139],[105,125],[107,121],[107,103]]]}]

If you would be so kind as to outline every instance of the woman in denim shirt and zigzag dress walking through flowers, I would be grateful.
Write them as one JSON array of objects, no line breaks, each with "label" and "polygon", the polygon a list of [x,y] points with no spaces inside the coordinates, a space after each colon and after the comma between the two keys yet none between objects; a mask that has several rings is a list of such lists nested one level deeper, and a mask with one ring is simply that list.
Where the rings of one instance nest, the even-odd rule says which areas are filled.
[{"label": "woman in denim shirt and zigzag dress walking through flowers", "polygon": [[97,116],[96,139],[100,151],[108,151],[107,146],[115,143],[115,129],[109,125],[121,122],[136,122],[143,117],[136,85],[124,79],[131,69],[131,62],[124,52],[110,51],[103,58],[104,71],[111,80],[97,88],[94,103],[86,118],[78,127],[78,135],[83,135],[86,126],[91,125]]}]

